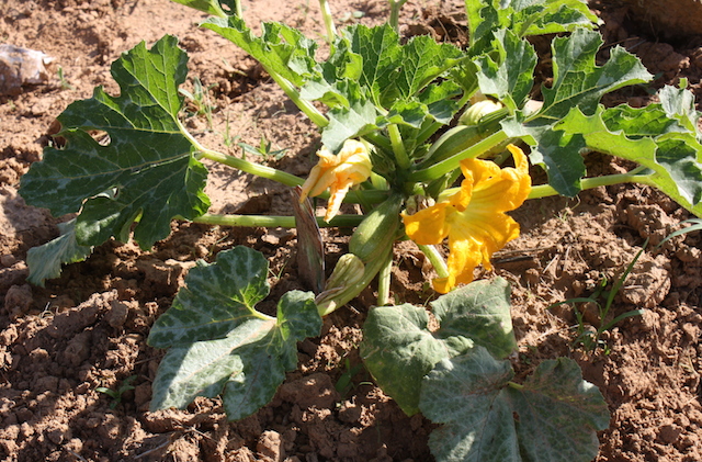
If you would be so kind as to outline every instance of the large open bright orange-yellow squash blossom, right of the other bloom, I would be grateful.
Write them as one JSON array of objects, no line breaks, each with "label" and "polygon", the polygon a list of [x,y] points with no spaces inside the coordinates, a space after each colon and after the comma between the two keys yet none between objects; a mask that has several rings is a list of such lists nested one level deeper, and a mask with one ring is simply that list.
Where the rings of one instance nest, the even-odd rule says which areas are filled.
[{"label": "large open bright orange-yellow squash blossom, right of the other bloom", "polygon": [[491,255],[519,236],[519,224],[505,212],[519,207],[531,191],[526,156],[507,147],[514,167],[500,169],[480,159],[461,161],[465,179],[449,198],[414,215],[403,215],[407,236],[420,245],[440,244],[449,237],[449,277],[433,280],[437,292],[473,281],[480,263],[491,269]]}]

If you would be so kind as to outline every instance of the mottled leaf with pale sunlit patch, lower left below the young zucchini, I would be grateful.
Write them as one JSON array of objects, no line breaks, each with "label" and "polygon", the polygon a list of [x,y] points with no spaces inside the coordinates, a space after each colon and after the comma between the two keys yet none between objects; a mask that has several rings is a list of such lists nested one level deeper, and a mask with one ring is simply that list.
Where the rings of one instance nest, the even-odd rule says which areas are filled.
[{"label": "mottled leaf with pale sunlit patch, lower left below the young zucchini", "polygon": [[269,292],[267,274],[265,259],[247,247],[190,271],[149,335],[150,346],[170,347],[154,380],[151,409],[222,395],[236,420],[270,402],[285,371],[297,365],[297,341],[319,335],[321,317],[314,294],[299,291],[283,295],[276,317],[257,312],[253,305]]}]

